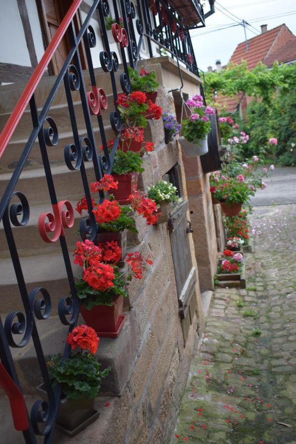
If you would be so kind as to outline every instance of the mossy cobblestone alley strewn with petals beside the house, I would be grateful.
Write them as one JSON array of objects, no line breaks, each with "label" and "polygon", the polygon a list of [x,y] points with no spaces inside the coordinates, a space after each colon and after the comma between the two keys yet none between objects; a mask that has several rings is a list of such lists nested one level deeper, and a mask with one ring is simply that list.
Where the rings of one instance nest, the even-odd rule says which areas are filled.
[{"label": "mossy cobblestone alley strewn with petals beside the house", "polygon": [[296,205],[251,222],[247,288],[215,292],[172,443],[296,443]]}]

